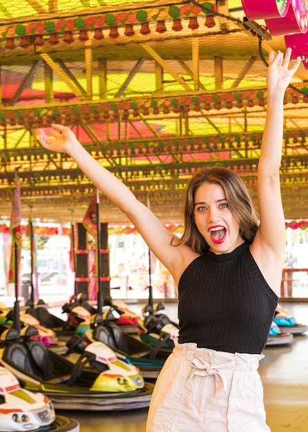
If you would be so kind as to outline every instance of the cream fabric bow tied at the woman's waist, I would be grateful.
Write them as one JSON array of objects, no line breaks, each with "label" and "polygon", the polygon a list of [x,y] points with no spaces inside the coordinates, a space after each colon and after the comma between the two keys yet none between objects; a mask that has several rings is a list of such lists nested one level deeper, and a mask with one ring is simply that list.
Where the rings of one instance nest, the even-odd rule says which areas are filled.
[{"label": "cream fabric bow tied at the woman's waist", "polygon": [[192,371],[190,373],[188,382],[192,380],[192,377],[194,375],[198,376],[207,376],[207,375],[214,375],[215,377],[215,396],[220,395],[223,393],[223,395],[226,395],[227,389],[226,389],[226,383],[227,379],[225,375],[222,373],[221,369],[230,369],[232,368],[236,362],[234,360],[229,361],[227,363],[220,363],[220,364],[210,364],[205,362],[204,360],[201,360],[198,356],[195,356],[190,365],[192,366]]}]

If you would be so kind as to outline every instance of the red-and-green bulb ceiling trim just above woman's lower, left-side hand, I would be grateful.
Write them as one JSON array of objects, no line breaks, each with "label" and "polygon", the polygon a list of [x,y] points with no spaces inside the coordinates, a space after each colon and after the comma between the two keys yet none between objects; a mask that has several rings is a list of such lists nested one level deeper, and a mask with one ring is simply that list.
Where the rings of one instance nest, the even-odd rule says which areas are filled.
[{"label": "red-and-green bulb ceiling trim just above woman's lower, left-side hand", "polygon": [[[23,128],[42,128],[51,123],[64,125],[103,123],[143,118],[147,116],[178,114],[180,112],[198,112],[200,110],[232,110],[234,108],[254,108],[266,105],[266,88],[245,89],[234,92],[192,92],[191,95],[171,95],[147,97],[145,99],[113,99],[112,101],[74,101],[41,104],[36,106],[3,106],[0,112],[0,130],[6,126]],[[307,104],[308,88],[288,88],[285,104]],[[306,107],[305,107],[306,108]]]}]

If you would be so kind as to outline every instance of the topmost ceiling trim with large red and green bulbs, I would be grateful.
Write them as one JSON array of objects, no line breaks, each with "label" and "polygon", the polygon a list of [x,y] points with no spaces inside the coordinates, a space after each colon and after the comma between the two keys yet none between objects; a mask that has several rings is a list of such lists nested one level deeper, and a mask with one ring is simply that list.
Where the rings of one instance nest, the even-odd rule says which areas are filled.
[{"label": "topmost ceiling trim with large red and green bulbs", "polygon": [[[104,39],[103,30],[107,30],[109,37],[116,39],[119,37],[119,28],[125,28],[124,35],[132,37],[136,32],[146,36],[152,30],[149,23],[156,24],[156,32],[167,32],[166,21],[172,21],[172,30],[175,32],[183,30],[181,20],[188,20],[188,28],[196,30],[201,26],[212,28],[216,26],[214,15],[216,3],[207,1],[202,3],[203,8],[195,6],[191,2],[178,2],[162,5],[158,3],[142,3],[134,9],[99,8],[88,13],[80,10],[74,12],[74,16],[65,17],[65,14],[45,14],[43,17],[25,17],[23,21],[14,24],[0,23],[0,37],[6,39],[6,44],[2,50],[13,50],[20,46],[29,48],[30,46],[41,47],[45,43],[55,46],[60,39],[65,43],[72,43],[74,40],[86,42],[90,39],[88,32],[92,32],[92,37],[96,40]],[[77,14],[77,16],[76,16]],[[137,29],[138,27],[138,29]],[[74,35],[78,35],[74,39]]]}]

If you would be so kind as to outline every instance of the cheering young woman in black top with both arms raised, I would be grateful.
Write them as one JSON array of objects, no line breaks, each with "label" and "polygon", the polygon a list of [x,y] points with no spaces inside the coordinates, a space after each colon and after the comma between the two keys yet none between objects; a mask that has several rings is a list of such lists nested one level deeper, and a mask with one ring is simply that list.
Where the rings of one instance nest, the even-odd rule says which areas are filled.
[{"label": "cheering young woman in black top with both arms raised", "polygon": [[179,336],[156,382],[147,432],[265,432],[263,358],[280,292],[285,217],[279,167],[283,98],[300,59],[269,54],[267,119],[258,164],[258,211],[231,170],[196,173],[187,187],[178,239],[65,126],[41,144],[70,155],[136,226],[178,286]]}]

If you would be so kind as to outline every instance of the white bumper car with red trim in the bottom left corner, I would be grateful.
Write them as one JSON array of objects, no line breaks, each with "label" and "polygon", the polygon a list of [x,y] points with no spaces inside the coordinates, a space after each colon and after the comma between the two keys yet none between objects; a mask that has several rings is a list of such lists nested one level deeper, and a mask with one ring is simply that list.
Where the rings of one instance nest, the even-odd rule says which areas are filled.
[{"label": "white bumper car with red trim in the bottom left corner", "polygon": [[79,432],[76,420],[56,416],[48,397],[22,389],[17,377],[3,366],[0,383],[1,432]]}]

